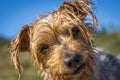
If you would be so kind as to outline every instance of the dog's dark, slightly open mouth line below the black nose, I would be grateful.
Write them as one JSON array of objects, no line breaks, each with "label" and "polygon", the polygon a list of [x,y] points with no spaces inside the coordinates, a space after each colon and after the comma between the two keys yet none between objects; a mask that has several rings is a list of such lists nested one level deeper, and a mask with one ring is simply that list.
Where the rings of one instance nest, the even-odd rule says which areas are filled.
[{"label": "dog's dark, slightly open mouth line below the black nose", "polygon": [[83,64],[80,65],[79,67],[75,68],[71,73],[65,73],[65,75],[66,75],[66,76],[69,76],[69,75],[77,75],[77,74],[79,74],[85,67],[86,67],[86,64],[83,63]]}]

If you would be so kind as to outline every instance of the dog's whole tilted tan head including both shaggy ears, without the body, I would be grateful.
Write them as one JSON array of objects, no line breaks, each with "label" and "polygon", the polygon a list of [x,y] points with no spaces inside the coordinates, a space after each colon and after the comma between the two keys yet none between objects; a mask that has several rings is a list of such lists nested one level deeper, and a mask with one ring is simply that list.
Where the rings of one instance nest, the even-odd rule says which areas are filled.
[{"label": "dog's whole tilted tan head including both shaggy ears, without the body", "polygon": [[86,69],[92,71],[93,36],[84,23],[88,13],[92,15],[87,0],[66,2],[58,11],[25,26],[10,45],[19,73],[20,51],[30,52],[40,70],[54,76],[81,75]]}]

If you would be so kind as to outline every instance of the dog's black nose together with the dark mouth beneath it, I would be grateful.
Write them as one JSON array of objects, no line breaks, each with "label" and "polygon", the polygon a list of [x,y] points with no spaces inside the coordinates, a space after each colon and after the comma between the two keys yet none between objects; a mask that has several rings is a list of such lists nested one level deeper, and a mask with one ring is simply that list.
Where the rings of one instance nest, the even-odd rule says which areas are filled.
[{"label": "dog's black nose together with the dark mouth beneath it", "polygon": [[86,64],[82,63],[82,56],[79,54],[72,54],[70,56],[65,57],[64,64],[67,68],[73,70],[73,72],[70,73],[70,75],[78,74],[82,69],[86,67]]}]

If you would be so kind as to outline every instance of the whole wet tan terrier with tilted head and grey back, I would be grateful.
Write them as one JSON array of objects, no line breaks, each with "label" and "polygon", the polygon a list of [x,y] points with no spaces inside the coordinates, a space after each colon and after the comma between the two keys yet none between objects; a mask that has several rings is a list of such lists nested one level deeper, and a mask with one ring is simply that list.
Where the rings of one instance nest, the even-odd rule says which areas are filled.
[{"label": "whole wet tan terrier with tilted head and grey back", "polygon": [[[25,25],[9,50],[18,73],[20,52],[29,52],[44,80],[120,80],[117,58],[95,52],[93,30],[97,26],[90,0],[66,1],[57,11]],[[116,66],[118,65],[118,66]]]}]

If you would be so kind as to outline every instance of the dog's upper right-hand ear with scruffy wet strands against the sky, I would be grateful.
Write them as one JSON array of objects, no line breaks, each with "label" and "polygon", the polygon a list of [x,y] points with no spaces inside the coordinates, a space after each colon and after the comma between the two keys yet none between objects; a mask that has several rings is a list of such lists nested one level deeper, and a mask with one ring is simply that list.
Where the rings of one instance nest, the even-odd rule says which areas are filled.
[{"label": "dog's upper right-hand ear with scruffy wet strands against the sky", "polygon": [[64,2],[59,10],[66,11],[66,13],[72,17],[77,17],[80,21],[85,21],[87,15],[90,15],[92,21],[98,26],[98,21],[95,15],[92,13],[91,0],[68,0]]}]

